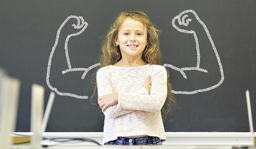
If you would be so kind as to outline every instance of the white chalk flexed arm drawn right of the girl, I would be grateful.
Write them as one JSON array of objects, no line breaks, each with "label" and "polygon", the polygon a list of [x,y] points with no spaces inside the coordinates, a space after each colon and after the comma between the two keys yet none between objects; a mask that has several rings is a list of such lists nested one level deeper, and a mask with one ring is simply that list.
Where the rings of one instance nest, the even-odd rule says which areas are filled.
[{"label": "white chalk flexed arm drawn right of the girl", "polygon": [[[218,55],[218,51],[212,41],[212,37],[206,27],[206,25],[204,24],[204,22],[198,17],[198,15],[196,14],[196,12],[194,10],[185,10],[185,11],[182,11],[179,15],[177,15],[176,17],[174,17],[172,19],[172,26],[177,30],[177,31],[180,31],[180,32],[183,32],[183,33],[186,33],[186,34],[193,34],[194,35],[194,39],[195,39],[195,45],[196,45],[196,52],[197,52],[197,64],[196,64],[196,67],[183,67],[183,68],[178,68],[178,67],[175,67],[173,65],[170,65],[170,64],[164,64],[163,66],[165,67],[170,67],[174,70],[177,70],[179,71],[183,77],[185,79],[187,79],[187,76],[185,74],[185,70],[198,70],[198,71],[201,71],[201,72],[204,72],[204,73],[207,73],[208,71],[205,70],[205,69],[202,69],[200,68],[200,49],[199,49],[199,42],[198,42],[198,37],[196,35],[196,32],[191,30],[191,31],[188,31],[188,30],[184,30],[184,29],[181,29],[179,27],[177,27],[177,25],[175,25],[175,21],[177,20],[179,25],[183,25],[183,26],[188,26],[189,25],[189,22],[192,21],[191,18],[187,18],[188,15],[186,13],[192,13],[195,15],[195,18],[198,20],[198,22],[204,27],[204,30],[207,34],[207,37],[209,39],[209,41],[211,42],[211,45],[212,45],[212,49],[215,53],[215,56],[218,60],[218,65],[219,65],[219,68],[220,68],[220,72],[221,72],[221,80],[211,86],[211,87],[207,87],[207,88],[204,88],[204,89],[199,89],[199,90],[194,90],[194,91],[175,91],[175,90],[172,90],[172,93],[175,93],[175,94],[195,94],[195,93],[199,93],[199,92],[205,92],[205,91],[209,91],[209,90],[212,90],[212,89],[215,89],[216,87],[220,86],[222,84],[222,82],[224,81],[224,72],[223,72],[223,67],[221,65],[221,59]],[[183,15],[185,14],[185,15]],[[183,17],[181,18],[181,16],[183,15]],[[186,19],[187,18],[187,19]]]}]

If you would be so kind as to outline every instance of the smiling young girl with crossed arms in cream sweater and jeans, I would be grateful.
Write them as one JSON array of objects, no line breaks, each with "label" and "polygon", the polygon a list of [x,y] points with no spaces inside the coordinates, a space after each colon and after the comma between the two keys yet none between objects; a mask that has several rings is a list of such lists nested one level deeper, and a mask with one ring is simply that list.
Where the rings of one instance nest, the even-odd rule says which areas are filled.
[{"label": "smiling young girl with crossed arms in cream sweater and jeans", "polygon": [[175,101],[157,32],[145,13],[125,11],[105,39],[96,74],[105,145],[160,145],[166,140],[161,110],[166,118]]}]

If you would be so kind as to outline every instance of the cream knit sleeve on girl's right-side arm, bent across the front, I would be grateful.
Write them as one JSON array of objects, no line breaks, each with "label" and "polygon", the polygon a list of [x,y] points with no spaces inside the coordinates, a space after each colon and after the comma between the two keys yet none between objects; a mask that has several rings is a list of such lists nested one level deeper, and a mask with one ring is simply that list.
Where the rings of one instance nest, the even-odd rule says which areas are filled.
[{"label": "cream knit sleeve on girl's right-side arm, bent across the front", "polygon": [[158,65],[151,77],[150,95],[118,92],[117,107],[129,110],[143,110],[147,112],[160,111],[167,96],[166,68]]}]

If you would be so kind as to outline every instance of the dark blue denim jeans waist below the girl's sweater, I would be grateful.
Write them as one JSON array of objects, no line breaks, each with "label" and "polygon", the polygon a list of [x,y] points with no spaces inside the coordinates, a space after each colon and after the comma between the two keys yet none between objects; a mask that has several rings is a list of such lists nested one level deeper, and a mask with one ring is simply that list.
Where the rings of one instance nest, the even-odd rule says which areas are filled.
[{"label": "dark blue denim jeans waist below the girl's sweater", "polygon": [[139,138],[118,137],[116,140],[109,141],[104,145],[162,145],[162,140],[151,136]]}]

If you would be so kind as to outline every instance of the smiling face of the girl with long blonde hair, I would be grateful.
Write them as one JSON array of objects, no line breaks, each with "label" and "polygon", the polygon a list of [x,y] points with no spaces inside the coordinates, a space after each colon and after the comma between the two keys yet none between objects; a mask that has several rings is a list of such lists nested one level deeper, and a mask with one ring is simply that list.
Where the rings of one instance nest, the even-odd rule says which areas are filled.
[{"label": "smiling face of the girl with long blonde hair", "polygon": [[119,45],[122,58],[141,58],[147,45],[147,33],[141,22],[125,19],[119,27],[116,45]]}]

